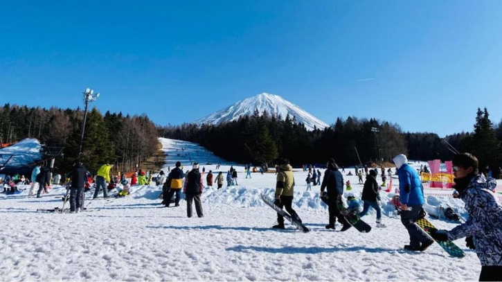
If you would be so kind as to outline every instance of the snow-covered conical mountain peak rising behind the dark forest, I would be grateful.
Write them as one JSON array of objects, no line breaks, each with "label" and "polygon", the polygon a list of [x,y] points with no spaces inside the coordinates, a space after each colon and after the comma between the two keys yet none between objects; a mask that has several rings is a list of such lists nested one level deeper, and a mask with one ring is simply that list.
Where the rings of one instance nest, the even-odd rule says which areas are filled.
[{"label": "snow-covered conical mountain peak rising behind the dark forest", "polygon": [[330,126],[319,118],[312,116],[312,114],[305,112],[301,107],[288,102],[281,96],[267,93],[258,94],[251,98],[241,100],[225,109],[221,109],[201,118],[195,121],[195,123],[217,125],[223,122],[237,121],[240,116],[251,116],[256,109],[258,109],[260,114],[262,114],[264,110],[267,110],[268,114],[280,115],[283,119],[286,118],[287,114],[289,114],[291,118],[295,116],[296,121],[298,123],[303,123],[307,130],[314,130],[314,125],[320,130]]}]

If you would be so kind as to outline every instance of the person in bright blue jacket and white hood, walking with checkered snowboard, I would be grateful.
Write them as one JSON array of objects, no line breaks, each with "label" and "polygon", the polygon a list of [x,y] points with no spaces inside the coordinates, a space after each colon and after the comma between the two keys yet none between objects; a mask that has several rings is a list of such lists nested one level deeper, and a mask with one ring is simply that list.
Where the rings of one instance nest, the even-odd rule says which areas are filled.
[{"label": "person in bright blue jacket and white hood, walking with checkered snowboard", "polygon": [[434,240],[415,223],[424,204],[422,182],[417,171],[406,164],[408,159],[405,155],[395,156],[393,162],[399,177],[401,222],[410,235],[410,245],[404,245],[404,249],[423,252]]}]

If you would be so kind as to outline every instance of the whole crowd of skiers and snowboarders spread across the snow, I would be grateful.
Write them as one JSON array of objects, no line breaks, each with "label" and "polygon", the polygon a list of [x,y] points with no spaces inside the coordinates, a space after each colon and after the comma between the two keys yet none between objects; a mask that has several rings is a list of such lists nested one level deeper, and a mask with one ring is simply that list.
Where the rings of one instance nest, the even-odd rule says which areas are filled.
[{"label": "whole crowd of skiers and snowboarders spread across the snow", "polygon": [[[457,240],[465,238],[466,246],[475,249],[479,260],[481,261],[482,270],[480,281],[501,281],[500,271],[502,270],[502,207],[496,201],[493,193],[496,187],[496,181],[490,175],[479,173],[478,159],[469,153],[456,155],[452,161],[454,170],[454,197],[465,202],[465,209],[469,214],[467,222],[458,225],[454,229],[437,230],[431,229],[430,236],[415,222],[423,216],[422,206],[424,204],[424,192],[422,181],[419,173],[427,172],[427,166],[421,166],[420,170],[415,170],[408,164],[405,155],[397,155],[393,159],[395,164],[395,175],[399,178],[399,194],[400,194],[400,209],[401,222],[409,233],[409,244],[404,245],[404,249],[411,252],[424,252],[430,245],[436,241]],[[51,184],[69,184],[69,202],[71,212],[79,212],[84,209],[84,191],[89,191],[90,184],[95,183],[96,189],[93,193],[93,199],[98,197],[100,191],[103,197],[108,198],[109,191],[114,189],[118,183],[122,184],[123,188],[118,195],[128,195],[130,187],[134,185],[150,185],[152,179],[156,186],[162,186],[161,198],[162,204],[169,207],[170,204],[179,206],[181,200],[181,189],[187,203],[187,216],[192,217],[192,203],[195,204],[195,211],[199,218],[204,217],[204,212],[201,203],[201,194],[204,192],[204,186],[213,186],[217,184],[217,189],[222,188],[224,179],[227,181],[227,186],[238,185],[237,170],[231,166],[227,170],[226,177],[223,172],[219,171],[214,177],[213,171],[209,170],[206,174],[206,169],[200,166],[197,162],[192,163],[191,170],[183,172],[183,166],[180,161],[177,161],[175,167],[171,170],[168,168],[168,175],[165,175],[163,170],[153,178],[154,173],[150,170],[145,172],[138,170],[131,175],[131,182],[127,181],[125,173],[118,173],[116,176],[111,176],[113,164],[103,164],[96,173],[96,179],[93,181],[93,176],[89,173],[80,161],[77,161],[70,173],[59,175],[52,173],[51,168],[44,164],[37,164],[33,169],[30,178],[24,175],[7,175],[2,183],[14,184],[31,184],[30,196],[34,196],[37,191],[37,197],[41,197],[41,193],[48,193],[48,188]],[[260,168],[260,170],[265,168]],[[251,178],[251,170],[258,172],[256,167],[251,168],[251,165],[246,165],[244,171],[246,178]],[[262,172],[263,172],[262,170]],[[324,173],[315,166],[303,166],[303,170],[308,170],[307,191],[312,190],[312,186],[320,186],[319,196],[323,202],[328,204],[328,224],[325,229],[335,229],[335,222],[341,224],[341,231],[346,231],[352,227],[348,222],[346,215],[342,213],[343,208],[343,193],[352,189],[350,181],[344,182],[342,172],[345,168],[339,168],[334,159],[327,161]],[[363,181],[363,173],[366,179]],[[358,176],[359,184],[364,184],[361,193],[361,204],[353,196],[347,198],[348,211],[357,213],[359,217],[364,217],[370,209],[376,211],[376,226],[386,227],[382,224],[382,208],[380,207],[379,191],[382,186],[377,183],[378,168],[368,168],[368,166],[356,166],[355,175]],[[347,175],[352,175],[349,171]],[[382,182],[385,183],[386,175],[391,177],[393,171],[391,168],[385,170],[380,168]],[[204,176],[206,177],[206,185],[204,185]],[[322,176],[322,181],[321,181]],[[293,209],[292,203],[294,200],[295,186],[294,172],[292,166],[287,159],[278,159],[276,161],[276,191],[275,202],[280,209],[285,209],[294,220],[301,222],[298,213]],[[173,199],[174,198],[174,199]],[[277,214],[278,224],[274,225],[274,229],[285,229],[283,215]]]}]

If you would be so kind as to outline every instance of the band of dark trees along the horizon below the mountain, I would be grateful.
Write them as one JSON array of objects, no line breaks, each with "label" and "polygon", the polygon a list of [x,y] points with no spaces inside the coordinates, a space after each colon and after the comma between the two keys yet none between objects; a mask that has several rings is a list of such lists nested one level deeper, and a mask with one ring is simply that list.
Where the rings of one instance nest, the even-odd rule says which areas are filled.
[{"label": "band of dark trees along the horizon below the mountain", "polygon": [[[0,143],[37,138],[46,146],[61,147],[60,168],[69,169],[78,157],[78,141],[83,110],[27,107],[6,103],[0,107]],[[291,164],[325,164],[335,159],[339,166],[390,163],[400,153],[409,159],[451,160],[460,152],[478,157],[480,168],[497,170],[502,166],[502,120],[494,125],[487,109],[478,109],[473,132],[460,132],[440,138],[432,132],[403,132],[397,123],[377,118],[348,116],[337,118],[330,127],[309,131],[296,118],[259,112],[237,121],[218,125],[155,125],[146,114],[102,115],[96,107],[87,116],[80,159],[94,172],[103,163],[116,164],[120,171],[136,170],[136,164],[152,157],[159,148],[157,137],[199,143],[218,157],[240,164],[271,165],[278,157]],[[443,141],[444,140],[444,141]],[[447,141],[447,143],[445,142]]]}]

